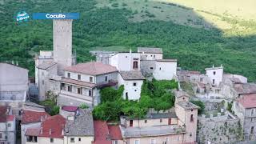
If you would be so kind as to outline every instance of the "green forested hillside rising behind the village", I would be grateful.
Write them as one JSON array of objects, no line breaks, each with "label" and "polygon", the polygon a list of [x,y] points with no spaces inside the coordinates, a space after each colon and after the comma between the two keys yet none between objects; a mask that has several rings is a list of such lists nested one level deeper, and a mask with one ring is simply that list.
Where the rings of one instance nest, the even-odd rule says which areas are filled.
[{"label": "green forested hillside rising behind the village", "polygon": [[[186,70],[203,71],[222,64],[226,72],[256,80],[254,21],[203,12],[229,24],[222,29],[189,7],[166,2],[154,5],[147,0],[0,0],[0,4],[0,61],[18,61],[30,69],[30,75],[34,74],[34,54],[52,50],[52,22],[30,19],[18,25],[14,15],[19,10],[30,15],[79,12],[81,18],[73,22],[73,49],[77,50],[78,62],[94,59],[89,53],[94,47],[136,50],[137,46],[155,46],[162,47],[165,58],[178,58],[178,65]],[[132,8],[132,4],[141,7]],[[170,15],[169,10],[178,13]],[[191,18],[184,19],[185,12]],[[166,15],[158,18],[162,14]],[[183,14],[181,21],[174,19],[178,14]]]}]

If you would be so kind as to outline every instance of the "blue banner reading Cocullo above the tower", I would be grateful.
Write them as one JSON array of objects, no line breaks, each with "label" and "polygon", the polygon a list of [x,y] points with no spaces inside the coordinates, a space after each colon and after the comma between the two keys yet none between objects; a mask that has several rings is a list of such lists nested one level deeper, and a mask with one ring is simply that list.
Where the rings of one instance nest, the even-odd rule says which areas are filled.
[{"label": "blue banner reading Cocullo above the tower", "polygon": [[79,13],[34,13],[33,19],[79,19]]}]

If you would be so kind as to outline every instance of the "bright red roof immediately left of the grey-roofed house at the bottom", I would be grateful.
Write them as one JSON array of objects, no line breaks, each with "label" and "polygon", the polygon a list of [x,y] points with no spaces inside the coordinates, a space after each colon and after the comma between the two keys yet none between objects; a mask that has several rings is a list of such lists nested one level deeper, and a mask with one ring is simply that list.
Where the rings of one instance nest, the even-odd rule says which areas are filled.
[{"label": "bright red roof immediately left of the grey-roofed house at the bottom", "polygon": [[62,130],[64,130],[65,124],[66,119],[59,114],[46,118],[41,124],[42,133],[40,132],[38,137],[63,138]]}]

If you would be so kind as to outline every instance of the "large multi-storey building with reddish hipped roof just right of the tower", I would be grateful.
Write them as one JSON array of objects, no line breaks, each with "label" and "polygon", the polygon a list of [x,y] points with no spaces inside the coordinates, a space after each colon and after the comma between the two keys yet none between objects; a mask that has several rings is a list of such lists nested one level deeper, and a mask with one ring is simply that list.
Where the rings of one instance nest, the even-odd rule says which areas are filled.
[{"label": "large multi-storey building with reddish hipped roof just right of the tower", "polygon": [[58,95],[60,106],[97,106],[100,102],[99,90],[105,86],[118,84],[118,70],[102,62],[79,63],[65,68]]}]

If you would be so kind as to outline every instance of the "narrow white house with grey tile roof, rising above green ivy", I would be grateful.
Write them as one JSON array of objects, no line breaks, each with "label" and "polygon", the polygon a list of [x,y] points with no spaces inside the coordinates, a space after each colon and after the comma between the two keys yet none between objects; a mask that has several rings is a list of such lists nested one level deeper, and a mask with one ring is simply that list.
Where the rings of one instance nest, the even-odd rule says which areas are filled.
[{"label": "narrow white house with grey tile roof, rising above green ivy", "polygon": [[138,100],[141,97],[141,89],[144,76],[138,70],[120,71],[118,74],[118,86],[123,85],[123,99]]}]

